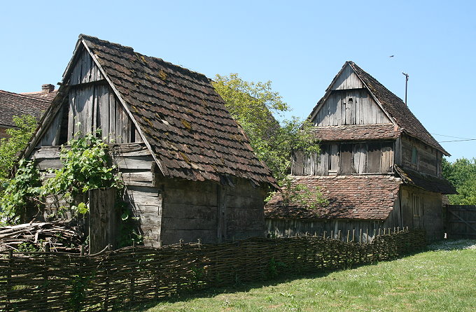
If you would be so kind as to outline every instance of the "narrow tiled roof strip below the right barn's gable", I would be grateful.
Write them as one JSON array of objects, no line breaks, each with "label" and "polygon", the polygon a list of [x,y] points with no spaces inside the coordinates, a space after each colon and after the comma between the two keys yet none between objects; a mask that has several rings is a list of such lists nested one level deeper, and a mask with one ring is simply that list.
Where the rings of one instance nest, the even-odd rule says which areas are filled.
[{"label": "narrow tiled roof strip below the right barn's gable", "polygon": [[312,133],[321,141],[397,139],[402,128],[393,124],[314,127]]}]

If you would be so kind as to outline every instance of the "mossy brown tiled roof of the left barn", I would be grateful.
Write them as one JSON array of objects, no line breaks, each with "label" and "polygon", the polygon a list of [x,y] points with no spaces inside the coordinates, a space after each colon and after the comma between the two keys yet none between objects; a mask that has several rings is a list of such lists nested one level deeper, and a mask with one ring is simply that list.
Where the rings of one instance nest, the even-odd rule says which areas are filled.
[{"label": "mossy brown tiled roof of the left barn", "polygon": [[209,78],[99,38],[80,35],[76,52],[80,45],[130,112],[164,176],[220,181],[230,175],[276,185]]}]

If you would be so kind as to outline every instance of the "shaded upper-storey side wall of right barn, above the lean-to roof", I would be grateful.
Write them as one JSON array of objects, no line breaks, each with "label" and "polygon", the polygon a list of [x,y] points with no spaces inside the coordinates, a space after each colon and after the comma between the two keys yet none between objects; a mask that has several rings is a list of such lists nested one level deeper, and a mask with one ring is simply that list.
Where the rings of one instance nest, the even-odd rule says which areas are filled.
[{"label": "shaded upper-storey side wall of right barn, above the lean-to roof", "polygon": [[401,159],[402,166],[428,173],[432,176],[441,176],[442,153],[418,139],[410,136],[401,136]]}]

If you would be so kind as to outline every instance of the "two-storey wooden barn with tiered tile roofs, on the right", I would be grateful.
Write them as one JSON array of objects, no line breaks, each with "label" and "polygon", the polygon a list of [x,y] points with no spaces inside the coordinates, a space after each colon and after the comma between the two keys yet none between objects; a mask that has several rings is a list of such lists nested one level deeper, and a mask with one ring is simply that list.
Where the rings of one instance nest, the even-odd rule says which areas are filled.
[{"label": "two-storey wooden barn with tiered tile roofs, on the right", "polygon": [[286,204],[276,194],[265,206],[267,232],[277,236],[342,233],[379,227],[425,228],[444,235],[440,146],[405,103],[353,62],[346,62],[309,119],[321,154],[293,154],[295,183],[319,187],[328,205]]}]

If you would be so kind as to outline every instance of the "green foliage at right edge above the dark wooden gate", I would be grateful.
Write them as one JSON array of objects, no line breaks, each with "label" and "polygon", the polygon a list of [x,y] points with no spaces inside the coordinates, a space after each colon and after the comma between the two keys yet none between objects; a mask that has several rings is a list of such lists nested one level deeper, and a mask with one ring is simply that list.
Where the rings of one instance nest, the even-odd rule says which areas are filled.
[{"label": "green foliage at right edge above the dark wooden gate", "polygon": [[452,205],[476,205],[476,158],[463,157],[452,163],[443,159],[442,173],[459,193],[448,196]]}]

